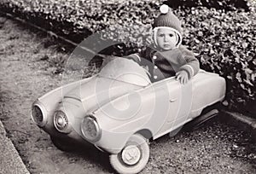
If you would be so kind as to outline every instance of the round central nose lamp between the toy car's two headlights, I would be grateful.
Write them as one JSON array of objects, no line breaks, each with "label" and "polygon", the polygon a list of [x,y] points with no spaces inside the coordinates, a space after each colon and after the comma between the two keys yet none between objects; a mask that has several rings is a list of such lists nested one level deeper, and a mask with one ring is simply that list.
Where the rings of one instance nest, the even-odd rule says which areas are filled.
[{"label": "round central nose lamp between the toy car's two headlights", "polygon": [[61,131],[62,133],[69,133],[71,131],[68,126],[67,115],[62,111],[55,112],[54,125],[56,130]]}]

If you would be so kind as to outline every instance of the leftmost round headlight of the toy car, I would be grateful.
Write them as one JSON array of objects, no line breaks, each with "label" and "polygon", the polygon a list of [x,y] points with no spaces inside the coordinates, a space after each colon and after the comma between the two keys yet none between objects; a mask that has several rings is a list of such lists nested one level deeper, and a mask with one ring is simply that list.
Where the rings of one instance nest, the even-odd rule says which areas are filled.
[{"label": "leftmost round headlight of the toy car", "polygon": [[32,105],[32,120],[40,127],[47,123],[44,107],[34,103]]}]

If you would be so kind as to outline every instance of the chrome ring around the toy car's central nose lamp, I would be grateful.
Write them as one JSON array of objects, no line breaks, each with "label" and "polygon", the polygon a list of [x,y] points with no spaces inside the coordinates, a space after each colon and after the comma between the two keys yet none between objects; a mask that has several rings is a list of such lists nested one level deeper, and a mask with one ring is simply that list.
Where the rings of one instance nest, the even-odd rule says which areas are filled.
[{"label": "chrome ring around the toy car's central nose lamp", "polygon": [[[61,115],[59,113],[61,113]],[[58,119],[61,119],[63,121],[64,125],[60,125],[58,123]],[[55,125],[55,129],[57,131],[60,131],[61,133],[70,133],[71,132],[69,120],[68,120],[67,114],[65,112],[63,112],[61,110],[56,110],[54,113],[54,116],[53,116],[53,122]]]}]

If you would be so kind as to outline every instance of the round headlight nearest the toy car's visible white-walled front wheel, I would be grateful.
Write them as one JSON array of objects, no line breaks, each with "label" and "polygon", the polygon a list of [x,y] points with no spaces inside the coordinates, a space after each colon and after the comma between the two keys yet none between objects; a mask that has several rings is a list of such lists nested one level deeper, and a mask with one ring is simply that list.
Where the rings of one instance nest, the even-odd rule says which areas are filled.
[{"label": "round headlight nearest the toy car's visible white-walled front wheel", "polygon": [[81,131],[86,140],[96,142],[101,138],[102,131],[96,122],[96,118],[92,115],[85,116],[82,124]]}]

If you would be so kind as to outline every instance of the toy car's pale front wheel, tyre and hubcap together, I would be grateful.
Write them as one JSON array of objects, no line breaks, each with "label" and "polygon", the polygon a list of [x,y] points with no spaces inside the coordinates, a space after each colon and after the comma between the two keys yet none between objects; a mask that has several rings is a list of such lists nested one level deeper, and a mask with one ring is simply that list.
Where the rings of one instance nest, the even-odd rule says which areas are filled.
[{"label": "toy car's pale front wheel, tyre and hubcap together", "polygon": [[110,164],[119,173],[138,173],[147,165],[149,146],[140,134],[134,134],[119,154],[110,155]]}]

